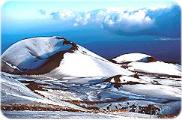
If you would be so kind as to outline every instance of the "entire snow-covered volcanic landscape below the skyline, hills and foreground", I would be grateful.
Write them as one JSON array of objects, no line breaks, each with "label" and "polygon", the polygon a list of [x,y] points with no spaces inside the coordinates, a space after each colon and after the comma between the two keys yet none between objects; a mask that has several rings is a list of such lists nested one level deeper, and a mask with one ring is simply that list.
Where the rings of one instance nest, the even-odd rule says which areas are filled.
[{"label": "entire snow-covered volcanic landscape below the skyline, hills and foreground", "polygon": [[1,82],[1,109],[10,118],[163,118],[181,111],[181,65],[143,53],[107,60],[58,36],[10,46],[1,55]]}]

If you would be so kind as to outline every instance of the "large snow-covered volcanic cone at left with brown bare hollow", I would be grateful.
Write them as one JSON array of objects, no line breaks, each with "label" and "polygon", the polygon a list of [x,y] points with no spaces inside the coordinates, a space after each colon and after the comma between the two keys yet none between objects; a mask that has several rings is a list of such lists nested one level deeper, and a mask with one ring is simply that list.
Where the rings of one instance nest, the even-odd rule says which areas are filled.
[{"label": "large snow-covered volcanic cone at left with brown bare hollow", "polygon": [[133,74],[62,37],[25,39],[12,45],[1,57],[2,71],[13,74],[44,74],[56,78]]}]

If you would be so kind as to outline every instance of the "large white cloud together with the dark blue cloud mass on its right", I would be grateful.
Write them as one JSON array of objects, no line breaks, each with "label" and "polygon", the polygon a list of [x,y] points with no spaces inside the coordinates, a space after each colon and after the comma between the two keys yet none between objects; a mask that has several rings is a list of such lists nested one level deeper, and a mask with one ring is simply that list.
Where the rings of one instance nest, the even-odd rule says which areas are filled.
[{"label": "large white cloud together with the dark blue cloud mass on its right", "polygon": [[105,29],[121,35],[156,35],[161,37],[180,37],[180,7],[158,10],[137,10],[110,15],[104,21]]}]

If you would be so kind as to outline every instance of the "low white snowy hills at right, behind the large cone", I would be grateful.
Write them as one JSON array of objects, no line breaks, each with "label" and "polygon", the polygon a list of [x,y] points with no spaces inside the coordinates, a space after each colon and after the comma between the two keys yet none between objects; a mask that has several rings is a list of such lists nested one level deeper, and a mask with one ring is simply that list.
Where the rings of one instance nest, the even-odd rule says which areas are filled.
[{"label": "low white snowy hills at right, behind the large cone", "polygon": [[154,57],[142,53],[124,54],[113,59],[122,67],[133,72],[181,77],[181,65],[157,61]]}]

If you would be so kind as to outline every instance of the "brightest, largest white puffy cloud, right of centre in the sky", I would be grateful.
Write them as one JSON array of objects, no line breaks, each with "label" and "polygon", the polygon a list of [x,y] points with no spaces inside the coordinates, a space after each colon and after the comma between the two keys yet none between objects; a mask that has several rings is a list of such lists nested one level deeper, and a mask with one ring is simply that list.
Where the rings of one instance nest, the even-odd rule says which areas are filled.
[{"label": "brightest, largest white puffy cloud, right of centre in the sky", "polygon": [[146,10],[134,12],[120,12],[109,14],[104,20],[107,27],[123,30],[124,32],[137,32],[152,26],[154,20],[147,15]]}]

